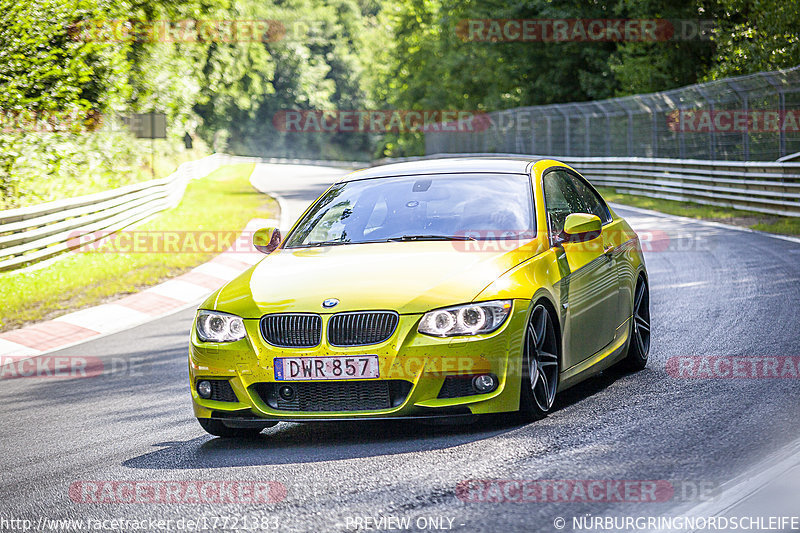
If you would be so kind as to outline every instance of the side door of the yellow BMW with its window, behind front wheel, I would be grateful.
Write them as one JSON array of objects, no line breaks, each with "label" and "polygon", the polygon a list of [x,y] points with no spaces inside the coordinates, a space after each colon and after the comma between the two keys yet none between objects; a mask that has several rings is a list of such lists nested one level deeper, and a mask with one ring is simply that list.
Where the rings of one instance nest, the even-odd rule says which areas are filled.
[{"label": "side door of the yellow BMW with its window, behind front wheel", "polygon": [[[563,167],[548,169],[542,178],[550,244],[558,248],[562,270],[565,369],[599,352],[614,339],[619,282],[613,254],[606,253],[604,234],[612,222],[604,203],[581,178]],[[604,224],[601,235],[581,243],[564,243],[564,222],[572,213],[589,213]]]}]

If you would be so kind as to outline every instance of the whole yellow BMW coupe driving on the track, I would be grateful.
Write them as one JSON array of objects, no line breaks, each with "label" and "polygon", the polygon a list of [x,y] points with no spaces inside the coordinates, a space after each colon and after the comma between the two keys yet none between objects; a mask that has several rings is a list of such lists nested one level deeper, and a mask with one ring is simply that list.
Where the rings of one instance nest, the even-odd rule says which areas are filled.
[{"label": "whole yellow BMW coupe driving on the track", "polygon": [[200,307],[194,413],[279,421],[521,411],[650,347],[639,240],[574,169],[463,158],[349,174]]}]

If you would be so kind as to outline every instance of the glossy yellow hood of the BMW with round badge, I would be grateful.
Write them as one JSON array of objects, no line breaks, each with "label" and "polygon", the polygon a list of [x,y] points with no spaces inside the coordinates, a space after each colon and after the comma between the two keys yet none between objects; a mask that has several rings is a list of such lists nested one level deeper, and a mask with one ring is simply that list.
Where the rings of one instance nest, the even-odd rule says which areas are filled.
[{"label": "glossy yellow hood of the BMW with round badge", "polygon": [[[502,242],[435,241],[278,250],[224,286],[204,307],[213,302],[214,308],[243,318],[289,311],[422,313],[472,301],[535,255],[532,246],[508,250],[498,249],[510,248]],[[327,298],[339,304],[325,309],[322,301]]]}]

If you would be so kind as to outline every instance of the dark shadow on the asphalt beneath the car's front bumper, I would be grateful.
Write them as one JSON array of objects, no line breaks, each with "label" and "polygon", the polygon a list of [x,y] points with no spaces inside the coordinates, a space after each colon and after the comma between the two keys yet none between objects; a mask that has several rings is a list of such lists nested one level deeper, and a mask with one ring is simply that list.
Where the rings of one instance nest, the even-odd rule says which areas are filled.
[{"label": "dark shadow on the asphalt beneath the car's front bumper", "polygon": [[153,446],[159,450],[122,465],[136,469],[203,469],[361,459],[453,448],[518,427],[519,422],[512,417],[437,426],[408,420],[283,422],[250,439],[203,436],[157,443]]}]

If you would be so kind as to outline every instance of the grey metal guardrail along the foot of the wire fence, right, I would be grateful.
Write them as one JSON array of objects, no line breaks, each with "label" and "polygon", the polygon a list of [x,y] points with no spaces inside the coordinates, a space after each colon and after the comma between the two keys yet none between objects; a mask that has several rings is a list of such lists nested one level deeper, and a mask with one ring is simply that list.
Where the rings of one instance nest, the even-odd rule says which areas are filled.
[{"label": "grey metal guardrail along the foot of the wire fence, right", "polygon": [[626,194],[800,217],[800,163],[485,152],[431,154],[381,162],[476,156],[556,159],[574,167],[594,185],[613,187]]}]

